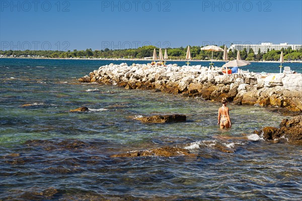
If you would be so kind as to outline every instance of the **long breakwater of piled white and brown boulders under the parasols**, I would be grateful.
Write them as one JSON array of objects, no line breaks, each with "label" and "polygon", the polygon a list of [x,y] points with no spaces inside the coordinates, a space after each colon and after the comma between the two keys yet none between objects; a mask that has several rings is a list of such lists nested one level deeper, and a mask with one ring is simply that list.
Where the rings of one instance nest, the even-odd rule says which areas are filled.
[{"label": "long breakwater of piled white and brown boulders under the parasols", "polygon": [[302,75],[235,73],[201,65],[152,66],[126,63],[101,66],[79,79],[80,82],[114,84],[126,89],[153,89],[205,100],[223,97],[237,105],[275,108],[284,115],[302,114]]}]

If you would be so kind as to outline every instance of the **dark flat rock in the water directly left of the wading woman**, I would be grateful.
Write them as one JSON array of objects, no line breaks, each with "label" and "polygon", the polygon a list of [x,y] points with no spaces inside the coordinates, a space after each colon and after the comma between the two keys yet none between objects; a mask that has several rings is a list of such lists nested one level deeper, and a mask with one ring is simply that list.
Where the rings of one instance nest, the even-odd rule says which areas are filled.
[{"label": "dark flat rock in the water directly left of the wading woman", "polygon": [[185,115],[155,115],[151,117],[140,117],[137,120],[143,123],[172,123],[185,122],[187,117]]}]

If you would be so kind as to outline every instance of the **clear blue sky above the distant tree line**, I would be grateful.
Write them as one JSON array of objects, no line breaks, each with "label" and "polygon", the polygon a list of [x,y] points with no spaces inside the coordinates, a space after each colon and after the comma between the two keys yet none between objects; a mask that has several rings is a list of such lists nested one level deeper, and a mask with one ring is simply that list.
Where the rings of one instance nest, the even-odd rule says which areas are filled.
[{"label": "clear blue sky above the distant tree line", "polygon": [[4,1],[1,50],[302,44],[302,1]]}]

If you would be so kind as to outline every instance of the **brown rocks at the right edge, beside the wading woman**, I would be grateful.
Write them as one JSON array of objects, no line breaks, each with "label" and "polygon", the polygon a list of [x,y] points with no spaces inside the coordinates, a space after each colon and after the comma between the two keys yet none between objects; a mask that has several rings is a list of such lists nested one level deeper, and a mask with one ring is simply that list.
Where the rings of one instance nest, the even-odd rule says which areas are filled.
[{"label": "brown rocks at the right edge, beside the wading woman", "polygon": [[263,134],[265,140],[302,145],[302,116],[296,116],[291,120],[283,119],[280,128],[265,127],[260,131],[255,131],[255,133]]}]

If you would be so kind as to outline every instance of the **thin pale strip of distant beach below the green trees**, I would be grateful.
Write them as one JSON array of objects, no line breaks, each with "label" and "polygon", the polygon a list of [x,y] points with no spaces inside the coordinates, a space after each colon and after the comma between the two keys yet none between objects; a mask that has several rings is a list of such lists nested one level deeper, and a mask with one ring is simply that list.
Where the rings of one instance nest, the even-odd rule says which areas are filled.
[{"label": "thin pale strip of distant beach below the green trees", "polygon": [[[45,58],[45,57],[0,57],[0,59],[66,59],[66,60],[121,60],[121,61],[153,61],[153,59],[121,59],[121,58]],[[156,59],[156,61],[159,61]],[[168,59],[166,61],[188,61],[185,59]],[[189,60],[189,62],[211,62],[210,60]],[[225,62],[223,60],[213,60],[213,62]],[[255,63],[280,63],[279,61],[249,61],[249,62],[255,62]],[[286,61],[284,63],[302,63],[302,61]]]}]

